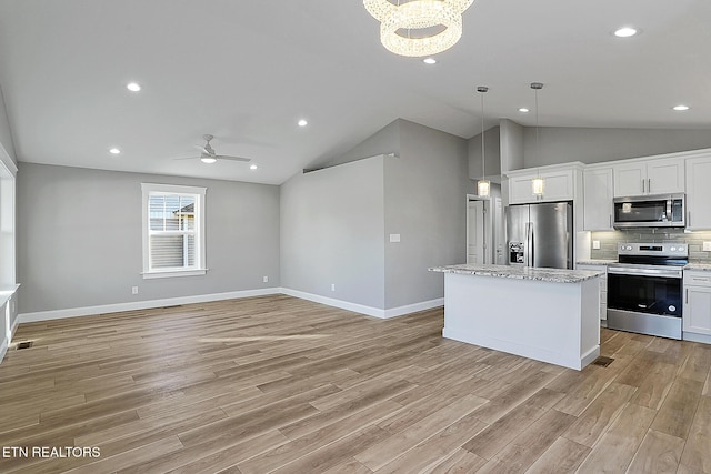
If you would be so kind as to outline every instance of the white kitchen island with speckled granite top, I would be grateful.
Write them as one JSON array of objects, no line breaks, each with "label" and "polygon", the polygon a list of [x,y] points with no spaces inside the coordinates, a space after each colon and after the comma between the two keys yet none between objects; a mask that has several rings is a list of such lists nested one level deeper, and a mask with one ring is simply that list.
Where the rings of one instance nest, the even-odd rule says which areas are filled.
[{"label": "white kitchen island with speckled granite top", "polygon": [[442,336],[581,370],[600,355],[597,271],[447,265]]}]

